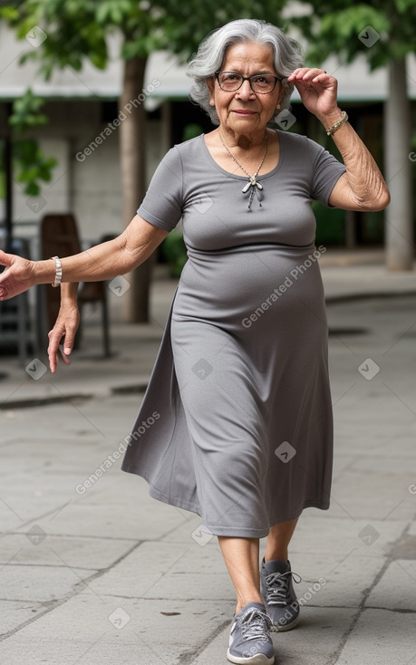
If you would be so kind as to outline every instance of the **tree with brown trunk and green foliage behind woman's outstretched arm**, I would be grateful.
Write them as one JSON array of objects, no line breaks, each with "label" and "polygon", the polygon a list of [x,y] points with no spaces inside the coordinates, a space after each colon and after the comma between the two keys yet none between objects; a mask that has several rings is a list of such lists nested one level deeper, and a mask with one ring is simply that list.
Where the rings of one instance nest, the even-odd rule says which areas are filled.
[{"label": "tree with brown trunk and green foliage behind woman's outstretched arm", "polygon": [[[21,62],[37,59],[46,79],[55,68],[69,66],[79,72],[85,60],[104,69],[110,57],[108,37],[118,34],[125,60],[122,109],[142,90],[152,51],[169,49],[187,60],[202,37],[227,21],[247,17],[279,24],[284,5],[285,0],[22,0],[17,6],[5,6],[0,15],[15,27],[19,38],[34,34],[35,48],[24,53]],[[120,130],[124,224],[145,193],[144,141],[140,140],[144,132],[145,113],[140,106]],[[140,265],[131,281],[126,298],[129,321],[149,319],[150,268],[146,264]]]}]

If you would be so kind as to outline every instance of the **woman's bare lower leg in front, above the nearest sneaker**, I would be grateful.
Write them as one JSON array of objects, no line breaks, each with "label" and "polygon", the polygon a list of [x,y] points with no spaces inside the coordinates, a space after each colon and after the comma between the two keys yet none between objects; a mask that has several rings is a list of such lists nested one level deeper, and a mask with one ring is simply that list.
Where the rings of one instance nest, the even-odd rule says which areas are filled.
[{"label": "woman's bare lower leg in front, above the nearest sneaker", "polygon": [[261,602],[258,538],[218,535],[218,543],[237,594],[236,614],[247,602]]}]

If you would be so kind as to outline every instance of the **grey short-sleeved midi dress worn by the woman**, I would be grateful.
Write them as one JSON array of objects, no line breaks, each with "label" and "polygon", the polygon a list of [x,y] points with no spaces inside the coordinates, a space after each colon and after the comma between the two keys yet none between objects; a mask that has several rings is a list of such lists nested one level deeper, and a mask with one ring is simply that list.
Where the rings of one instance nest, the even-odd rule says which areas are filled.
[{"label": "grey short-sleeved midi dress worn by the woman", "polygon": [[[203,135],[170,149],[138,213],[182,218],[189,260],[122,469],[150,495],[198,513],[215,535],[263,537],[307,506],[326,509],[333,420],[314,199],[343,164],[279,131],[258,179],[221,169]],[[321,251],[323,248],[321,248]]]}]

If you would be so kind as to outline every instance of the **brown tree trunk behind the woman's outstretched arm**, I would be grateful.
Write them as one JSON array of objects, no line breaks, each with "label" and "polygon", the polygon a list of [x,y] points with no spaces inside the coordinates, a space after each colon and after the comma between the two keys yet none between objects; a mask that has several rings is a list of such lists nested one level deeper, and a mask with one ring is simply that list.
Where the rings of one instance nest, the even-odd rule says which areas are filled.
[{"label": "brown tree trunk behind the woman's outstretched arm", "polygon": [[[122,217],[124,227],[136,214],[146,192],[144,72],[146,58],[131,58],[124,65],[124,82],[119,101]],[[133,102],[134,101],[134,105]],[[129,111],[130,110],[130,111]],[[128,323],[149,322],[150,277],[152,257],[126,275],[131,287],[122,296]]]}]

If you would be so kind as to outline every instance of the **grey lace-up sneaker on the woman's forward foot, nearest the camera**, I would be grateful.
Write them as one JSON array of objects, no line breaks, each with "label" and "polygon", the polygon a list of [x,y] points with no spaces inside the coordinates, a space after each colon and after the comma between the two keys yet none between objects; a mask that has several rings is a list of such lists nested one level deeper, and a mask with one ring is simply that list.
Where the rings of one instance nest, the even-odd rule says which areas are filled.
[{"label": "grey lace-up sneaker on the woman's forward foot, nearest the camera", "polygon": [[248,602],[234,617],[227,659],[238,665],[272,665],[275,662],[270,619],[261,602]]}]

